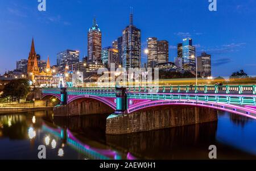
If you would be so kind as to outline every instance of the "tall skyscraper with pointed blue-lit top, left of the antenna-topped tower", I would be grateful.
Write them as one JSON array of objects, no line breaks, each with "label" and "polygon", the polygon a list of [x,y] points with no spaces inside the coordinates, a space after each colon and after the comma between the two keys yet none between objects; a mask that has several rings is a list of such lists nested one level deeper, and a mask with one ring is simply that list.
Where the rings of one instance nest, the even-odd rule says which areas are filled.
[{"label": "tall skyscraper with pointed blue-lit top, left of the antenna-topped tower", "polygon": [[93,19],[93,25],[88,32],[88,62],[100,62],[101,61],[101,30],[96,23],[96,19]]}]

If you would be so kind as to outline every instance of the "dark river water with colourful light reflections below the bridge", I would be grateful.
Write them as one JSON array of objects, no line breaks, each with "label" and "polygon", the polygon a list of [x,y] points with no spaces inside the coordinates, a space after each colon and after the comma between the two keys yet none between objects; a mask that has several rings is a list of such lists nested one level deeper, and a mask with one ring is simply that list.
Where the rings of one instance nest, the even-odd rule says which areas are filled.
[{"label": "dark river water with colourful light reflections below the bridge", "polygon": [[108,115],[53,118],[52,111],[0,115],[0,159],[256,159],[256,120],[218,112],[218,121],[129,135],[105,135]]}]

